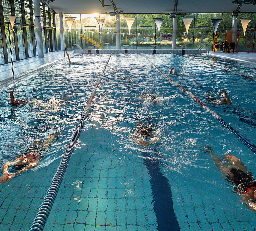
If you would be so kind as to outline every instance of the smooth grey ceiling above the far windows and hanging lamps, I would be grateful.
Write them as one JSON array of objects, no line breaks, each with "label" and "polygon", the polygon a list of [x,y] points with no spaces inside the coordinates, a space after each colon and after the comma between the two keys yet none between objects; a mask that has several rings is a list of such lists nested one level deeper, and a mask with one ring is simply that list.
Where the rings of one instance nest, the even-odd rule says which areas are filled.
[{"label": "smooth grey ceiling above the far windows and hanging lamps", "polygon": [[[224,13],[233,12],[238,5],[233,0],[178,0],[178,13]],[[171,13],[175,0],[113,0],[123,13]],[[55,0],[48,4],[57,13],[91,14],[113,11],[112,6],[102,7],[99,0]],[[111,5],[105,0],[105,5]],[[256,12],[256,5],[243,4],[239,12]]]}]

